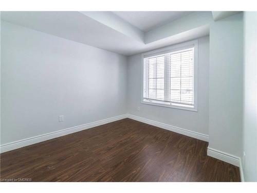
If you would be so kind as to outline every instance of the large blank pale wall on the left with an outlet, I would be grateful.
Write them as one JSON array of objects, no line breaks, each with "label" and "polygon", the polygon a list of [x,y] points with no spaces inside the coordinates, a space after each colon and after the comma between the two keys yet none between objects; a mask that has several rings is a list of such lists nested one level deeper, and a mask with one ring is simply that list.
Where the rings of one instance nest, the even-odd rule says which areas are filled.
[{"label": "large blank pale wall on the left with an outlet", "polygon": [[126,57],[3,21],[1,27],[1,144],[126,112]]}]

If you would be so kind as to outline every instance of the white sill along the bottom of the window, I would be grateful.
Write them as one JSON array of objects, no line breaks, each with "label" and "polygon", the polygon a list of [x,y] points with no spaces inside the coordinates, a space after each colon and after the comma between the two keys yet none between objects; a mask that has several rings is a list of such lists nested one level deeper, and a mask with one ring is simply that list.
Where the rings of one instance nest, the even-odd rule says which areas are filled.
[{"label": "white sill along the bottom of the window", "polygon": [[150,100],[146,100],[146,99],[143,99],[141,101],[141,103],[142,104],[150,104],[150,105],[153,105],[153,106],[160,106],[160,107],[167,107],[167,108],[197,112],[196,107],[190,107],[190,106],[187,107],[187,105],[183,105],[183,104],[181,104],[181,105],[180,104],[169,104],[168,102],[150,101]]}]

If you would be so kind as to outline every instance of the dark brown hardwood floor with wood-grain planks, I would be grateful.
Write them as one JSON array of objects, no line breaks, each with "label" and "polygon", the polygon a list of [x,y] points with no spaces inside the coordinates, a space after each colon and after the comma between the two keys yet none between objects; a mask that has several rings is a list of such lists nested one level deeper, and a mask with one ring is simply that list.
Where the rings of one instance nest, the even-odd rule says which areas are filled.
[{"label": "dark brown hardwood floor with wood-grain planks", "polygon": [[122,119],[1,154],[1,178],[32,181],[240,181],[208,143]]}]

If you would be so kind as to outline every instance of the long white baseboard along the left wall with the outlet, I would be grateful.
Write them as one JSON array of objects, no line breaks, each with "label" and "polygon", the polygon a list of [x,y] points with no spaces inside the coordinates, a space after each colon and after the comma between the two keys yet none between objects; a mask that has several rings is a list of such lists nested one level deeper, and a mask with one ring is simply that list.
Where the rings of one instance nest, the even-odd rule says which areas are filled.
[{"label": "long white baseboard along the left wall with the outlet", "polygon": [[11,142],[11,143],[8,143],[8,144],[3,144],[3,145],[0,146],[0,153],[10,151],[10,150],[13,150],[13,149],[18,149],[18,148],[25,147],[25,146],[29,146],[29,145],[32,145],[32,144],[36,144],[36,143],[39,143],[39,142],[43,142],[43,141],[53,139],[53,138],[56,138],[56,137],[60,137],[60,136],[63,136],[63,135],[67,135],[67,134],[70,134],[70,133],[75,133],[75,132],[82,131],[82,130],[85,130],[85,129],[89,129],[89,128],[97,127],[97,126],[100,126],[100,125],[108,124],[109,122],[120,120],[120,119],[123,119],[123,118],[126,118],[126,117],[127,117],[127,115],[120,115],[120,116],[116,116],[116,117],[106,118],[106,119],[103,119],[103,120],[90,122],[88,124],[84,124],[84,125],[80,125],[80,126],[76,126],[76,127],[71,127],[71,128],[63,129],[63,130],[59,130],[59,131],[54,131],[54,132],[46,133],[46,134],[43,134],[43,135],[34,136],[34,137],[19,140],[19,141],[16,141],[16,142]]}]

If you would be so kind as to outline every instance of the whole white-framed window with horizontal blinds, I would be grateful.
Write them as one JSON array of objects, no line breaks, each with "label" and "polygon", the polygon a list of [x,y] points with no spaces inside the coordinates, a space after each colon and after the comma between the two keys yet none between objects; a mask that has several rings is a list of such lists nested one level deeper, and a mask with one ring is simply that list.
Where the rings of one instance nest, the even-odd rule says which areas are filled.
[{"label": "whole white-framed window with horizontal blinds", "polygon": [[143,54],[142,102],[197,111],[197,41]]}]

